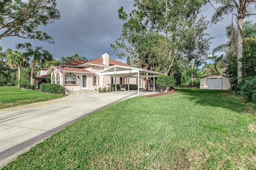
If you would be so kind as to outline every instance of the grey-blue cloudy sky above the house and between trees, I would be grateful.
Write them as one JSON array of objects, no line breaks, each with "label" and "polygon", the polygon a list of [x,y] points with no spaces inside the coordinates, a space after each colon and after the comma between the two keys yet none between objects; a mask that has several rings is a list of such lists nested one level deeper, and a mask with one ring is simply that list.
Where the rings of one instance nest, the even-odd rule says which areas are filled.
[{"label": "grey-blue cloudy sky above the house and between trees", "polygon": [[[57,0],[57,9],[60,11],[61,19],[47,27],[40,27],[54,38],[54,44],[28,40],[17,37],[4,37],[0,40],[3,51],[6,48],[14,49],[16,43],[29,42],[36,46],[42,46],[50,51],[54,58],[60,56],[71,56],[75,53],[88,59],[100,57],[108,53],[110,58],[118,59],[110,47],[111,43],[122,34],[123,20],[118,18],[117,10],[124,6],[126,12],[133,9],[133,0]],[[214,9],[210,4],[202,8],[202,15],[210,20]],[[249,18],[256,22],[256,17]],[[248,20],[246,18],[245,20]],[[231,15],[208,28],[206,33],[214,37],[209,53],[214,47],[226,43],[225,26],[231,23]]]}]

